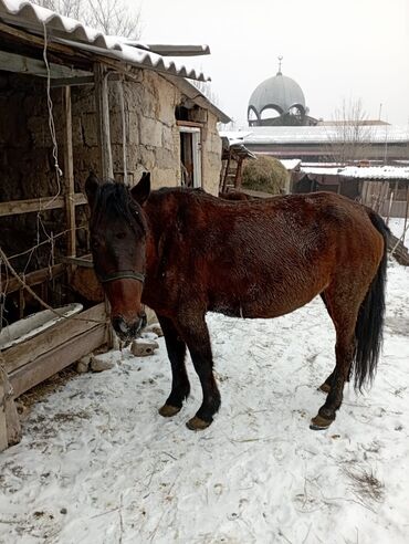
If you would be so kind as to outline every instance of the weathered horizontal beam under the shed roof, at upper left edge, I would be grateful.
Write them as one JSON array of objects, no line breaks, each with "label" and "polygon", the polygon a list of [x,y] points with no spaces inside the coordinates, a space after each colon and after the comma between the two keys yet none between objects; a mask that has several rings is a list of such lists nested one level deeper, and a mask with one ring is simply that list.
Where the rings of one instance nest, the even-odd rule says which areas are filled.
[{"label": "weathered horizontal beam under the shed roof, at upper left edge", "polygon": [[[91,75],[90,72],[74,70],[53,62],[50,62],[49,66],[51,79]],[[15,72],[19,74],[36,75],[39,77],[48,77],[44,61],[17,53],[8,53],[7,51],[0,51],[0,70],[4,70],[6,72]]]}]

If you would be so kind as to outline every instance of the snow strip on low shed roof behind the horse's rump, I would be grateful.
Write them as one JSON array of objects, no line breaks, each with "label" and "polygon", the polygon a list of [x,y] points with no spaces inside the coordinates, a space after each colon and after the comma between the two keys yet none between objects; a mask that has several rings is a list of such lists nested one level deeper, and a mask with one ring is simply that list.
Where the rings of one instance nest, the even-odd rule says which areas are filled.
[{"label": "snow strip on low shed roof behind the horse's rump", "polygon": [[409,179],[409,167],[401,166],[345,166],[344,168],[302,166],[301,171],[312,175],[342,176],[356,179]]}]

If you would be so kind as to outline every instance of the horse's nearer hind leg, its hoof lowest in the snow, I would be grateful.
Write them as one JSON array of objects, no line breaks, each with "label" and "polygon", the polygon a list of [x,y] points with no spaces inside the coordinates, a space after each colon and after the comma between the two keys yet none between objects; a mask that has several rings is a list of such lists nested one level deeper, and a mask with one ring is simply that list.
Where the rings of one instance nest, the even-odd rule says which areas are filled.
[{"label": "horse's nearer hind leg, its hoof lowest in the snow", "polygon": [[333,373],[324,383],[327,386],[327,398],[319,408],[318,415],[312,419],[312,429],[326,429],[334,421],[336,410],[343,401],[345,381],[349,379],[350,365],[355,353],[355,324],[358,307],[355,297],[331,297],[326,294],[325,304],[336,329],[335,357],[336,365]]}]

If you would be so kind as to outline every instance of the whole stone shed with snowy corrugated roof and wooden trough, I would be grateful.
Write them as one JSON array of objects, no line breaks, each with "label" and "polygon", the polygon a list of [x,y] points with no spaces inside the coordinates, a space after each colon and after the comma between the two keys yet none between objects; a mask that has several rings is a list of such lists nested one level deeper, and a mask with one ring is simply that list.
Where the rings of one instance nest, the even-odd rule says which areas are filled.
[{"label": "whole stone shed with snowy corrugated roof and wooden trough", "polygon": [[[19,439],[15,397],[112,345],[91,279],[85,293],[73,281],[78,270],[93,274],[82,191],[90,170],[130,186],[149,170],[154,189],[217,195],[217,123],[230,118],[189,82],[207,77],[177,59],[209,52],[135,44],[0,0],[0,331],[11,337],[14,322],[44,307],[61,317],[0,344],[0,450]],[[65,313],[73,304],[75,320]]]}]

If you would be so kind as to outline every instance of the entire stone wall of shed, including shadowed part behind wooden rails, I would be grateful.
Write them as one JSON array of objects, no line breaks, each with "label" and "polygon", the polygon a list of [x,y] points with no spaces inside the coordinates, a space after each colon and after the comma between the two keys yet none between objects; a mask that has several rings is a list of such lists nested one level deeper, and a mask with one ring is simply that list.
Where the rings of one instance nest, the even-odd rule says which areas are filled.
[{"label": "entire stone wall of shed, including shadowed part behind wooden rails", "polygon": [[[153,188],[177,186],[180,180],[180,134],[175,108],[183,97],[174,84],[155,72],[140,70],[135,82],[109,82],[111,138],[114,172],[123,171],[123,121],[118,86],[123,85],[126,118],[126,154],[130,184],[136,184],[144,170],[151,172]],[[62,90],[51,91],[59,145],[59,164],[64,170],[64,133]],[[75,190],[81,191],[90,170],[99,170],[96,105],[94,87],[72,87],[73,156]],[[0,72],[0,201],[55,196],[63,191],[55,176],[52,139],[49,128],[45,81],[27,75]],[[204,124],[202,136],[202,186],[217,195],[221,140],[216,116],[203,108],[192,109],[191,121]],[[77,245],[87,250],[86,209],[76,210]],[[0,218],[1,242],[9,254],[24,251],[46,232],[65,229],[62,210]],[[45,229],[45,230],[44,230]],[[64,252],[64,238],[57,252]],[[56,255],[57,257],[57,255]],[[49,254],[32,260],[30,269],[46,265]],[[44,264],[45,263],[45,264]]]}]

